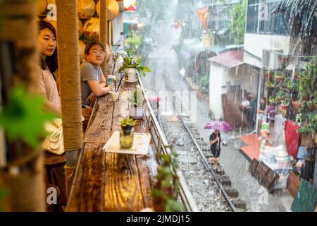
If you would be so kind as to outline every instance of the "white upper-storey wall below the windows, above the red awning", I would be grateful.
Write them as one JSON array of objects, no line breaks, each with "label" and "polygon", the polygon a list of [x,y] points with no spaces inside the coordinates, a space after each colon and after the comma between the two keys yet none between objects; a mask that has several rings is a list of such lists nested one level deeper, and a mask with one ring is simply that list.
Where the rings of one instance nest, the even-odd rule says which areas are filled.
[{"label": "white upper-storey wall below the windows, above the red awning", "polygon": [[[283,54],[290,52],[290,36],[286,35],[261,35],[261,34],[244,34],[244,50],[254,54],[262,59],[263,49],[282,49]],[[262,67],[261,61],[254,59],[244,52],[244,63]]]}]

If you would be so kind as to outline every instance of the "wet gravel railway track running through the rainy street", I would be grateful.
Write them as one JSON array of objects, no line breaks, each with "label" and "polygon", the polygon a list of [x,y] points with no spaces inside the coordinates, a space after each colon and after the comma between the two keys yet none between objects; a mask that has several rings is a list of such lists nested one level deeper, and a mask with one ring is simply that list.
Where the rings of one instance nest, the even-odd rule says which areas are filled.
[{"label": "wet gravel railway track running through the rainy street", "polygon": [[[166,72],[163,72],[163,79],[166,81],[166,90],[174,93],[173,83]],[[166,137],[179,155],[180,170],[199,211],[246,211],[246,204],[240,200],[237,190],[232,188],[230,178],[222,167],[217,172],[213,171],[207,160],[211,155],[209,145],[201,138],[179,100],[180,97],[176,96],[173,106],[169,106],[176,114],[160,116],[160,121]]]}]

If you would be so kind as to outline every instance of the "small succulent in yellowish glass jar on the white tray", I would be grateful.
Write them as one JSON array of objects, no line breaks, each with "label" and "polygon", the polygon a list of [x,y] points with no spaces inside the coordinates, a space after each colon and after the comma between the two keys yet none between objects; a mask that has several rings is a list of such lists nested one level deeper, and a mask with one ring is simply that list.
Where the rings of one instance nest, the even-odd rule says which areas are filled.
[{"label": "small succulent in yellowish glass jar on the white tray", "polygon": [[134,128],[137,121],[133,119],[122,119],[120,121],[120,147],[125,149],[132,148]]}]

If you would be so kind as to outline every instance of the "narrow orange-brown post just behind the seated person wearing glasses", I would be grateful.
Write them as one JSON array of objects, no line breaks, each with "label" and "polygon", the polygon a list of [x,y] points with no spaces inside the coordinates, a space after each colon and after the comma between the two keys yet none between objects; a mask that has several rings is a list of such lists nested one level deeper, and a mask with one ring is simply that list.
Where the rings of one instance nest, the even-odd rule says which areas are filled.
[{"label": "narrow orange-brown post just behind the seated person wearing glasses", "polygon": [[[100,0],[100,42],[104,44],[104,47],[108,44],[108,16],[107,16],[107,0]],[[107,61],[106,57],[101,64],[101,70],[104,72],[104,76],[107,77]]]}]

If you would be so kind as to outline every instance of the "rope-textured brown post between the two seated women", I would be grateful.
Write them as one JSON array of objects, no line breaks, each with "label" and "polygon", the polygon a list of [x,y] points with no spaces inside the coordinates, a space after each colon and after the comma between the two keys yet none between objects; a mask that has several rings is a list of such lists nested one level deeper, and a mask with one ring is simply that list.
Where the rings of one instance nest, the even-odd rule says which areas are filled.
[{"label": "rope-textured brown post between the two seated women", "polygon": [[81,91],[76,0],[56,0],[58,73],[61,78],[61,112],[66,150],[66,192],[75,174],[82,148]]}]

